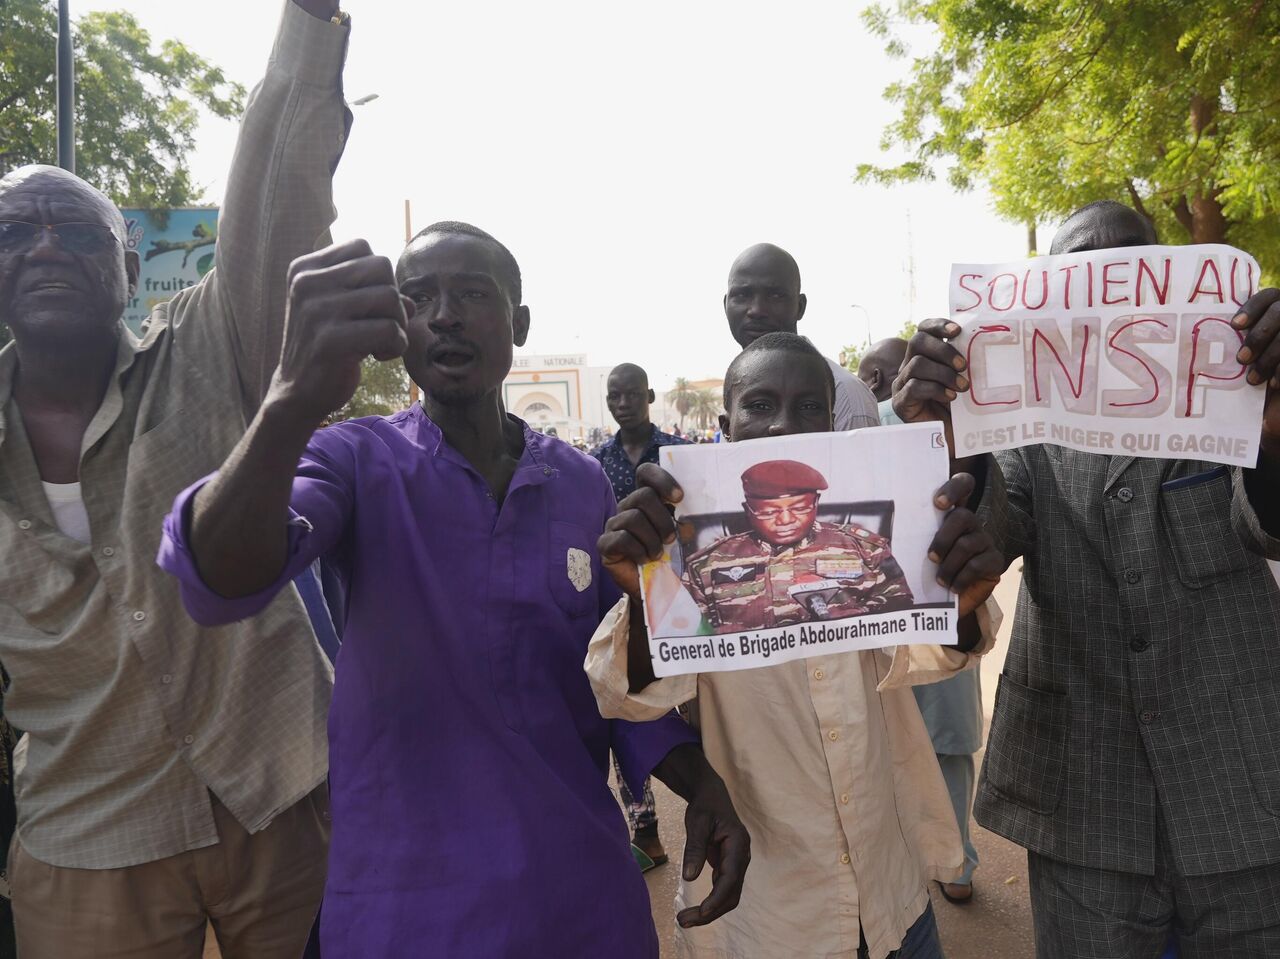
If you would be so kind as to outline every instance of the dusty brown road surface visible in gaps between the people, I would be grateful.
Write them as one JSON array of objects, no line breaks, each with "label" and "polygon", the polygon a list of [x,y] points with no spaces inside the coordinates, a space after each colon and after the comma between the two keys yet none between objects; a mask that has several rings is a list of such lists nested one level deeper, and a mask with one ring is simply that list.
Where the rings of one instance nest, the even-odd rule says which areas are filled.
[{"label": "dusty brown road surface visible in gaps between the people", "polygon": [[[987,718],[996,697],[996,677],[1005,663],[1009,630],[1018,598],[1016,574],[1005,576],[997,600],[1005,609],[1001,641],[982,665],[982,691]],[[979,757],[980,759],[980,757]],[[662,959],[673,959],[675,915],[672,901],[680,878],[680,850],[684,845],[684,802],[660,784],[654,784],[658,818],[663,842],[671,863],[650,871],[649,898],[653,901],[654,924],[662,939]],[[968,905],[947,903],[933,890],[933,910],[938,917],[942,945],[947,959],[1033,959],[1030,901],[1027,898],[1027,854],[1000,836],[973,823],[974,845],[982,864],[974,876],[974,898]],[[764,958],[762,958],[764,959]]]}]

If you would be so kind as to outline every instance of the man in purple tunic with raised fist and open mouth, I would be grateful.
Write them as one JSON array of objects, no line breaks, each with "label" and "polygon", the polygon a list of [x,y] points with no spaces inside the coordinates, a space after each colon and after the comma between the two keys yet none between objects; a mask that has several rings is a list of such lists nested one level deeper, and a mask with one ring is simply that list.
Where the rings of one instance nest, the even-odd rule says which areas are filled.
[{"label": "man in purple tunic with raised fist and open mouth", "polygon": [[[406,316],[411,319],[406,319]],[[474,227],[428,227],[390,262],[364,242],[294,261],[284,350],[243,442],[178,497],[160,563],[204,624],[250,616],[317,556],[347,598],[329,721],[326,953],[654,959],[612,748],[689,800],[685,909],[732,909],[750,858],[724,784],[676,716],[600,718],[586,644],[620,593],[596,538],[599,465],[500,401],[529,307]],[[360,361],[403,355],[422,406],[312,430]]]}]

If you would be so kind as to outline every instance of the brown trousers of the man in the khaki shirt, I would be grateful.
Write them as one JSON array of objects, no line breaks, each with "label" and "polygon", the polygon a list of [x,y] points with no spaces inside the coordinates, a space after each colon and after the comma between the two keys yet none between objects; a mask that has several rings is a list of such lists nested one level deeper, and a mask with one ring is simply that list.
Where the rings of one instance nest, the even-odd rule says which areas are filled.
[{"label": "brown trousers of the man in the khaki shirt", "polygon": [[298,959],[320,908],[328,787],[250,835],[214,800],[218,845],[123,869],[68,869],[17,840],[9,862],[22,959]]}]

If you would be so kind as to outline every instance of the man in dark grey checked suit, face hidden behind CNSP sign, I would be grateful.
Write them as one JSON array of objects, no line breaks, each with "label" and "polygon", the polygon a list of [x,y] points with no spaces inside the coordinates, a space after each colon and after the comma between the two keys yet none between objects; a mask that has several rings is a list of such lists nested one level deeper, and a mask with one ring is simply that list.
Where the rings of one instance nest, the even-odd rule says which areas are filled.
[{"label": "man in dark grey checked suit, face hidden behind CNSP sign", "polygon": [[[1120,204],[1052,252],[1155,243]],[[957,463],[1024,560],[975,816],[1025,846],[1041,959],[1280,955],[1280,291],[1233,320],[1270,382],[1257,469],[1033,446]],[[893,406],[943,420],[968,389],[929,320]],[[975,494],[979,496],[979,494]]]}]

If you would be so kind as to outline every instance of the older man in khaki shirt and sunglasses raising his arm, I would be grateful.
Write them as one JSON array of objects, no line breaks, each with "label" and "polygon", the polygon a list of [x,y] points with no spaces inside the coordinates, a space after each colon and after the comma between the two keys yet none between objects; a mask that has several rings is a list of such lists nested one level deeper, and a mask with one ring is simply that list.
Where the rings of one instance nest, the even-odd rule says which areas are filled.
[{"label": "older man in khaki shirt and sunglasses raising his arm", "polygon": [[[10,850],[23,959],[296,959],[324,885],[332,671],[297,597],[216,630],[155,565],[174,496],[244,431],[288,264],[328,242],[347,136],[337,0],[284,4],[215,269],[120,323],[138,257],[110,201],[0,181],[0,662],[26,730]],[[246,24],[247,26],[247,24]]]}]

